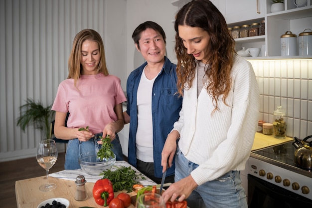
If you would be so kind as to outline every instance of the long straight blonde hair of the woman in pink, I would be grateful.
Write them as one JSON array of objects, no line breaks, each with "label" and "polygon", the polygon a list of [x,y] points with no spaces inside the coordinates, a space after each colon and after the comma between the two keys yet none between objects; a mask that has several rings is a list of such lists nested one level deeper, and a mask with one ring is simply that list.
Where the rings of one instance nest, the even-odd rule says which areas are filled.
[{"label": "long straight blonde hair of the woman in pink", "polygon": [[67,76],[67,79],[73,78],[75,87],[77,87],[77,81],[80,78],[80,75],[82,72],[81,47],[82,47],[82,43],[85,40],[95,41],[99,44],[101,59],[98,65],[97,73],[103,73],[105,76],[109,74],[107,66],[106,66],[105,50],[104,50],[104,44],[103,44],[101,35],[93,29],[83,29],[76,34],[74,41],[73,41],[73,46],[72,46],[72,49],[68,58],[69,74]]}]

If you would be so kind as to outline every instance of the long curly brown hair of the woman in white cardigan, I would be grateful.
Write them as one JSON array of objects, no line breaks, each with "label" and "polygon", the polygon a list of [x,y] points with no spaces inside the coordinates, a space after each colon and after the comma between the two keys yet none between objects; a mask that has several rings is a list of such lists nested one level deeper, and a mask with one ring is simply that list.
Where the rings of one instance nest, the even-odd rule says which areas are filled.
[{"label": "long curly brown hair of the woman in white cardigan", "polygon": [[215,110],[218,110],[219,96],[223,95],[222,100],[226,104],[225,99],[231,88],[230,73],[235,53],[235,41],[228,32],[225,18],[209,0],[192,0],[177,12],[174,22],[177,87],[178,93],[183,96],[183,90],[192,86],[197,60],[192,54],[187,54],[187,48],[179,37],[178,25],[200,27],[210,35],[209,53],[204,58],[209,66],[205,70],[208,80],[206,90],[213,98]]}]

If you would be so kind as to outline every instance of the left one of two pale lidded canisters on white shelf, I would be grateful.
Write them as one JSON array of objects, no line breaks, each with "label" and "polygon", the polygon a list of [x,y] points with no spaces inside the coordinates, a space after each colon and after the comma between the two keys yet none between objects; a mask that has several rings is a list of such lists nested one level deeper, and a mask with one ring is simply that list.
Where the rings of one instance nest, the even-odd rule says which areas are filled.
[{"label": "left one of two pale lidded canisters on white shelf", "polygon": [[281,56],[297,55],[297,35],[286,31],[281,35]]}]

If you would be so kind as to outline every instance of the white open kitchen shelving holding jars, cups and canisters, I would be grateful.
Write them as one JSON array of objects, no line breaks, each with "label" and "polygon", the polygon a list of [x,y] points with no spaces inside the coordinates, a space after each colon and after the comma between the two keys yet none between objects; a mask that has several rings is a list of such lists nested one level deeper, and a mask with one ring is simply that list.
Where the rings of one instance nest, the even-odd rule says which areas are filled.
[{"label": "white open kitchen shelving holding jars, cups and canisters", "polygon": [[[299,56],[298,35],[307,28],[312,28],[312,0],[307,0],[306,6],[298,7],[294,0],[285,0],[285,10],[271,12],[272,0],[264,1],[264,18],[247,19],[243,22],[229,23],[229,27],[240,26],[240,24],[250,24],[265,20],[265,35],[255,37],[236,38],[236,51],[242,47],[259,47],[265,45],[267,57],[252,57],[247,59],[263,58],[312,58],[309,56]],[[281,35],[291,31],[297,35],[297,54],[296,56],[281,56]]]}]

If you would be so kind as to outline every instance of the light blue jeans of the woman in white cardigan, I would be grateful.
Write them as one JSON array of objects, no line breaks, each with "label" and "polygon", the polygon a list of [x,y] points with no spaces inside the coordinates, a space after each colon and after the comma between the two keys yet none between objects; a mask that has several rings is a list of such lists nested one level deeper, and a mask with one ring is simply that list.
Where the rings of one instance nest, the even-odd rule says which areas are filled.
[{"label": "light blue jeans of the woman in white cardigan", "polygon": [[[175,178],[179,181],[198,167],[178,151],[175,156]],[[239,171],[230,171],[216,180],[198,186],[187,198],[189,208],[248,208]]]}]

